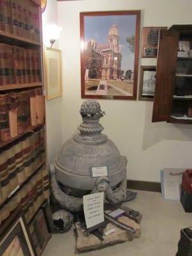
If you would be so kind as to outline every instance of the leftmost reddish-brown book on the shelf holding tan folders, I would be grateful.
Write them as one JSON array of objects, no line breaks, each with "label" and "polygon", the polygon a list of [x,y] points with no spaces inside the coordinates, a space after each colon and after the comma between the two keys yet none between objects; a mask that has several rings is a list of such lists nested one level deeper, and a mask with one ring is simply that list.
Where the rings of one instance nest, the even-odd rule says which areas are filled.
[{"label": "leftmost reddish-brown book on the shelf holding tan folders", "polygon": [[10,122],[8,117],[9,97],[7,93],[0,94],[0,139],[10,140]]}]

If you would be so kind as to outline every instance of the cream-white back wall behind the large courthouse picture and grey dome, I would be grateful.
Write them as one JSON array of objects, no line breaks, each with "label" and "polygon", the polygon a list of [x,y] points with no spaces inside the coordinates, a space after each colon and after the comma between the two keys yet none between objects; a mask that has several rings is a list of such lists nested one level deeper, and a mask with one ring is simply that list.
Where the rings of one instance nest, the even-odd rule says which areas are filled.
[{"label": "cream-white back wall behind the large courthouse picture and grey dome", "polygon": [[[84,100],[81,99],[79,12],[109,10],[141,10],[141,28],[192,22],[191,0],[58,2],[58,23],[63,27],[60,37],[63,52],[63,142],[72,136],[80,124],[79,109]],[[140,65],[154,63],[156,60],[141,61],[140,58]],[[152,124],[152,102],[98,101],[106,111],[106,116],[101,120],[104,132],[116,143],[120,153],[127,156],[128,179],[159,181],[159,170],[165,167],[192,168],[192,125]],[[52,132],[52,127],[49,127],[49,132]]]}]

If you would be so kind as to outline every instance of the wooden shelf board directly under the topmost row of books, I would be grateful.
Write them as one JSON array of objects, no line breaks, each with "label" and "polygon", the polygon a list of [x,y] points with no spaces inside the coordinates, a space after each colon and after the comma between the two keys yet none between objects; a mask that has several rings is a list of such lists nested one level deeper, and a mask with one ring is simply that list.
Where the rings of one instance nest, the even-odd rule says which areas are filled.
[{"label": "wooden shelf board directly under the topmost row of books", "polygon": [[21,45],[41,46],[42,45],[42,43],[40,43],[40,42],[36,42],[31,39],[17,36],[12,33],[7,33],[4,31],[0,31],[0,40],[1,40],[1,43],[4,43],[4,44],[8,43],[8,44],[16,44],[16,45],[20,45],[20,46]]}]

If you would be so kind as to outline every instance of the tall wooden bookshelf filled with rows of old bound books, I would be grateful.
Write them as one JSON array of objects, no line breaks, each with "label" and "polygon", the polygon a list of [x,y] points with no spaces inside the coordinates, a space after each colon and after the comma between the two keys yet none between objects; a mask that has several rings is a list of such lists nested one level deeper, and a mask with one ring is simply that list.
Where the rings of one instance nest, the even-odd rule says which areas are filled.
[{"label": "tall wooden bookshelf filled with rows of old bound books", "polygon": [[0,230],[14,212],[29,223],[49,198],[40,2],[0,9],[10,17],[0,23]]}]

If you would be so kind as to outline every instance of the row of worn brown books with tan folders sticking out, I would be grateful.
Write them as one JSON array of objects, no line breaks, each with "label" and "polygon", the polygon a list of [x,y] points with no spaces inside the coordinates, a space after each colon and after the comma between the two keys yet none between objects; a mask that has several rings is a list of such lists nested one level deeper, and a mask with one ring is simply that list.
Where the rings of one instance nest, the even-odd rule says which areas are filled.
[{"label": "row of worn brown books with tan folders sticking out", "polygon": [[45,97],[42,88],[0,93],[0,141],[8,141],[31,126],[44,124]]}]

